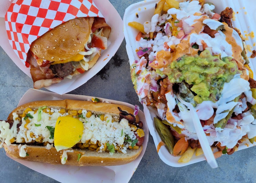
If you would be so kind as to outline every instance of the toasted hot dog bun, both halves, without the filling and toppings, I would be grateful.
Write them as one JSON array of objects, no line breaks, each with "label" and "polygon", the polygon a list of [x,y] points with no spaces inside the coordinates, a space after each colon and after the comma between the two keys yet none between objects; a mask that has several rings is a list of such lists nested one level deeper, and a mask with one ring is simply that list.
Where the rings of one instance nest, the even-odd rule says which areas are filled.
[{"label": "toasted hot dog bun, both halves, without the filling and toppings", "polygon": [[[127,112],[129,114],[134,113],[134,110],[127,106],[111,104],[111,103],[103,103],[103,102],[78,101],[78,100],[69,100],[69,99],[55,100],[55,101],[34,101],[34,102],[23,104],[15,108],[9,114],[6,122],[10,123],[10,121],[13,120],[14,118],[13,114],[14,115],[18,114],[18,116],[20,116],[28,108],[32,109],[33,111],[37,111],[39,107],[43,107],[43,106],[47,106],[47,108],[66,109],[66,110],[85,109],[86,111],[92,112],[93,115],[95,114],[95,116],[100,114],[104,114],[104,115],[110,114],[111,116],[116,118],[120,117],[120,110],[119,110],[120,108],[122,109],[123,112]],[[137,115],[135,116],[134,119],[135,119],[134,124],[139,122]],[[3,129],[1,125],[0,125],[0,129]],[[45,146],[43,145],[43,143],[41,143],[40,145],[35,145],[35,143],[33,142],[32,143],[31,142],[30,143],[29,142],[26,142],[26,143],[12,142],[12,144],[7,144],[4,141],[5,139],[0,138],[0,140],[2,141],[2,146],[6,150],[6,153],[9,154],[11,157],[27,160],[27,161],[34,161],[34,162],[63,164],[61,162],[61,156],[63,156],[64,152],[67,151],[65,152],[67,154],[67,160],[65,164],[73,165],[73,166],[111,166],[111,165],[127,164],[135,160],[142,151],[142,145],[141,145],[142,143],[140,143],[138,149],[127,148],[126,153],[115,151],[114,154],[110,154],[109,152],[106,152],[106,151],[97,152],[96,150],[92,151],[89,149],[79,149],[76,146],[73,146],[72,148],[69,148],[69,149],[57,151],[56,148],[53,147],[53,143],[51,146],[50,146],[51,143],[48,144],[49,146]],[[27,154],[27,156],[25,157],[24,156],[21,157],[20,155],[21,145],[25,146],[24,152]]]}]

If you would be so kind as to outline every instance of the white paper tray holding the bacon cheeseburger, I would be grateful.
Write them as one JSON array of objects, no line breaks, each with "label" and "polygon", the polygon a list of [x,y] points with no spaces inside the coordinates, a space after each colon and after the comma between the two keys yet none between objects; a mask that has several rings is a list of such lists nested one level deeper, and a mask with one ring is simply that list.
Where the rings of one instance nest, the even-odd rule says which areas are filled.
[{"label": "white paper tray holding the bacon cheeseburger", "polygon": [[[26,67],[16,53],[13,51],[6,33],[4,15],[8,10],[12,0],[1,0],[0,5],[0,46],[12,59],[12,61],[29,77],[30,67]],[[101,52],[101,56],[96,64],[83,74],[73,77],[72,79],[65,78],[58,84],[52,84],[51,86],[45,87],[46,89],[58,93],[68,93],[79,86],[85,84],[89,79],[96,75],[115,55],[116,51],[120,47],[123,39],[122,19],[114,6],[108,1],[94,0],[95,5],[99,11],[103,14],[106,23],[111,27],[111,34],[108,39],[108,48]],[[33,87],[33,86],[31,86]]]}]

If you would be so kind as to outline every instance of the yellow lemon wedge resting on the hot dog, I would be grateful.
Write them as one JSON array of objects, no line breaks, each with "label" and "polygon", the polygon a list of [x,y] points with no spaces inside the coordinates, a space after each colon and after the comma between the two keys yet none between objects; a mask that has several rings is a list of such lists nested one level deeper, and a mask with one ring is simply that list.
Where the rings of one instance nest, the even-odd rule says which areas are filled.
[{"label": "yellow lemon wedge resting on the hot dog", "polygon": [[54,146],[57,151],[68,149],[81,140],[83,122],[68,116],[58,117],[54,130]]}]

